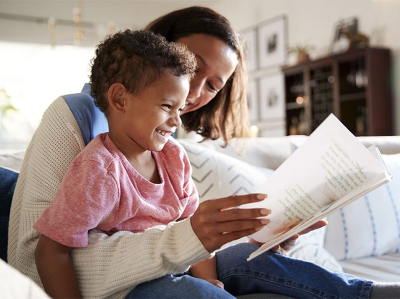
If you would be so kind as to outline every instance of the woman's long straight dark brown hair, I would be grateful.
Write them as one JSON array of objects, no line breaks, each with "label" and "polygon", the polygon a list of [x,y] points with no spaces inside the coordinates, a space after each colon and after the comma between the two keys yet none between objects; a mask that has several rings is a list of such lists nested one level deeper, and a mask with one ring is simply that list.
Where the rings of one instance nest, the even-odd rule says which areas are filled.
[{"label": "woman's long straight dark brown hair", "polygon": [[248,137],[247,71],[241,39],[232,24],[222,15],[207,7],[191,6],[167,13],[146,26],[168,41],[176,41],[190,34],[216,36],[237,55],[236,69],[225,86],[203,107],[181,116],[183,126],[204,139],[223,138],[225,145],[233,137]]}]

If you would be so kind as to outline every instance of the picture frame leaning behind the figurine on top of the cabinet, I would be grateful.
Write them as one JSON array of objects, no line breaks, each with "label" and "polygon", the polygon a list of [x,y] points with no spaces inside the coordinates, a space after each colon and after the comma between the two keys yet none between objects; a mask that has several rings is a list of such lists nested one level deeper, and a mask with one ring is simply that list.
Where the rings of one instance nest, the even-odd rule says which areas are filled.
[{"label": "picture frame leaning behind the figurine on top of the cabinet", "polygon": [[358,31],[357,17],[352,16],[345,19],[340,19],[334,24],[332,37],[329,44],[329,53],[338,53],[348,49],[349,40],[342,33],[343,29],[350,33],[356,33]]}]

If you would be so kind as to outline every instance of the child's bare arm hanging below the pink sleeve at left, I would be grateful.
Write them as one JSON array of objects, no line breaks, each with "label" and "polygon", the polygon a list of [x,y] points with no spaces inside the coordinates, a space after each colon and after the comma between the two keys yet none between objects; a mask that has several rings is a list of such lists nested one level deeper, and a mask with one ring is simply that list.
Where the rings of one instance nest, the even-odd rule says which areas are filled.
[{"label": "child's bare arm hanging below the pink sleeve at left", "polygon": [[44,291],[52,298],[80,298],[76,275],[69,256],[72,247],[41,235],[35,262]]}]

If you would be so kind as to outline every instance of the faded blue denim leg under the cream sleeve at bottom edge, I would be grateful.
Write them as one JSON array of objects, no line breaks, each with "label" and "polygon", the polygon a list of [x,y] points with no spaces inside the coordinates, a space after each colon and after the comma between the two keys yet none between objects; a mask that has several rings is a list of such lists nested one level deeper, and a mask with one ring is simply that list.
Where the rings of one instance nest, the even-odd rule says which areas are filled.
[{"label": "faded blue denim leg under the cream sleeve at bottom edge", "polygon": [[137,285],[125,298],[232,299],[234,297],[204,280],[189,275],[182,275],[179,277],[166,275],[159,279]]}]

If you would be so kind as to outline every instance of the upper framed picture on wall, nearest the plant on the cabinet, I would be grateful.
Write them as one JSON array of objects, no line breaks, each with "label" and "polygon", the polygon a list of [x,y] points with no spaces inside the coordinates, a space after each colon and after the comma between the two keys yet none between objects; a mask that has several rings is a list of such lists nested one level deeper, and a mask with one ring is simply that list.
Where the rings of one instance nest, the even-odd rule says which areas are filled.
[{"label": "upper framed picture on wall, nearest the plant on the cabinet", "polygon": [[260,68],[283,65],[287,56],[287,17],[280,15],[262,22],[257,33]]}]

